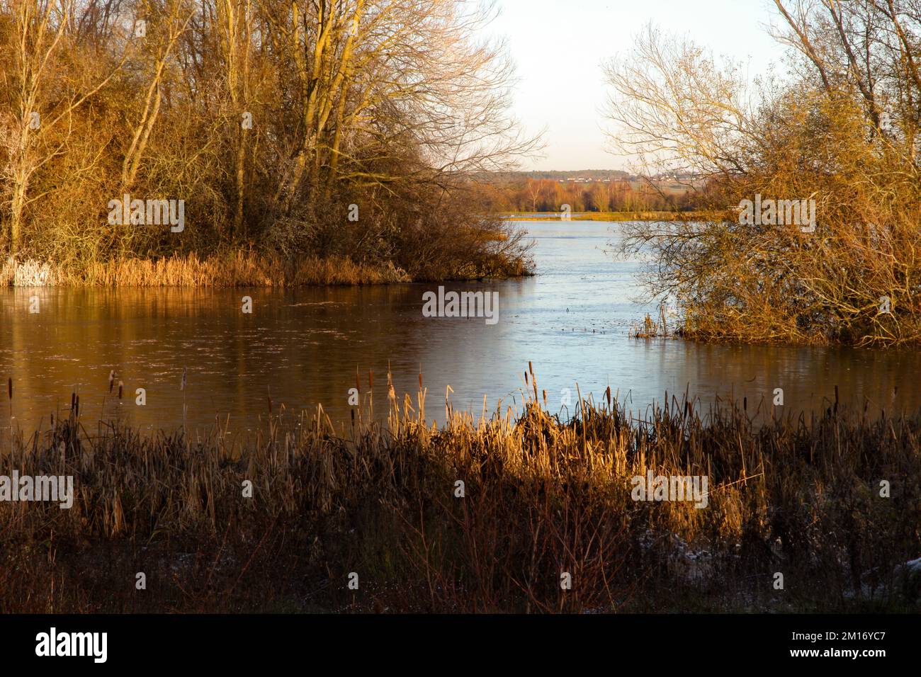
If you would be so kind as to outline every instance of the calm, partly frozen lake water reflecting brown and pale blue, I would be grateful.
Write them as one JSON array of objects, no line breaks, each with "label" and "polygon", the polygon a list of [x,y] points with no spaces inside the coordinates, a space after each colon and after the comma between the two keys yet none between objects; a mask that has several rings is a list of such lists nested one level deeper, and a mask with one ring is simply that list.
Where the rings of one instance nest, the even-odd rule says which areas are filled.
[{"label": "calm, partly frozen lake water reflecting brown and pale blue", "polygon": [[[427,414],[444,412],[448,385],[455,409],[519,406],[530,360],[552,410],[575,386],[600,398],[610,385],[642,413],[665,392],[688,389],[770,403],[783,388],[785,409],[815,411],[841,399],[879,414],[921,405],[921,357],[915,350],[703,345],[628,337],[651,308],[637,302],[639,263],[617,260],[609,243],[619,225],[521,222],[536,240],[538,274],[524,280],[447,283],[448,290],[499,292],[499,321],[425,318],[422,295],[433,285],[266,289],[0,289],[0,377],[14,380],[13,425],[45,427],[67,413],[70,393],[81,417],[121,411],[143,427],[181,425],[183,367],[190,427],[229,415],[239,430],[259,426],[271,393],[275,410],[314,410],[346,420],[356,370],[362,387],[374,372],[376,408],[386,403],[388,366],[400,393],[424,374]],[[252,298],[252,314],[241,297]],[[29,312],[37,296],[40,312]],[[108,391],[110,369],[125,385],[122,403]],[[146,389],[146,406],[134,390]],[[895,389],[897,388],[897,391]],[[4,389],[6,390],[6,389]],[[893,392],[896,394],[893,396]],[[103,402],[103,395],[106,401]],[[8,401],[0,394],[0,426]]]}]

